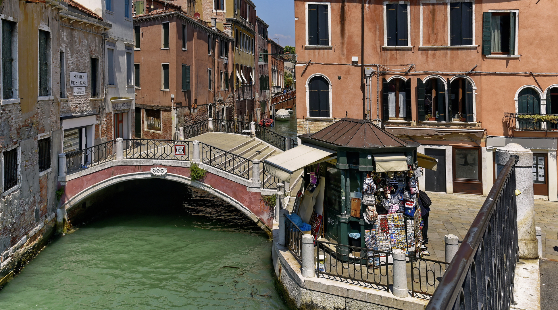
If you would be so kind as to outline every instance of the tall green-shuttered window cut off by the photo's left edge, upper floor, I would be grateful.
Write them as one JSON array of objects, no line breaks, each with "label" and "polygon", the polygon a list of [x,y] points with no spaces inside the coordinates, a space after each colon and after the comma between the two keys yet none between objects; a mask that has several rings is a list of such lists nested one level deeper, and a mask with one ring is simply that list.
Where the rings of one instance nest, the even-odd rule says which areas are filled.
[{"label": "tall green-shuttered window cut off by the photo's left edge, upper floor", "polygon": [[16,23],[2,20],[2,99],[17,96]]}]

